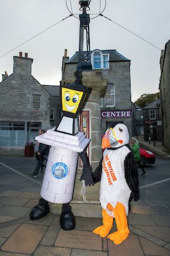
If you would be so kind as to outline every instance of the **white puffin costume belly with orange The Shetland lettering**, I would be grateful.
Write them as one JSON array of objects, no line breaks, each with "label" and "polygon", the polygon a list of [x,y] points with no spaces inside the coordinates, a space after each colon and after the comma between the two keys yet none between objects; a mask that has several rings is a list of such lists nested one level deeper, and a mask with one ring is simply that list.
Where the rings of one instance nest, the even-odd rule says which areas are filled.
[{"label": "white puffin costume belly with orange The Shetland lettering", "polygon": [[113,212],[107,209],[109,203],[115,208],[117,202],[120,202],[124,205],[126,214],[128,214],[131,189],[129,189],[125,180],[124,159],[129,152],[130,150],[127,147],[118,148],[117,150],[104,150],[100,201],[101,207],[112,217],[114,217]]}]

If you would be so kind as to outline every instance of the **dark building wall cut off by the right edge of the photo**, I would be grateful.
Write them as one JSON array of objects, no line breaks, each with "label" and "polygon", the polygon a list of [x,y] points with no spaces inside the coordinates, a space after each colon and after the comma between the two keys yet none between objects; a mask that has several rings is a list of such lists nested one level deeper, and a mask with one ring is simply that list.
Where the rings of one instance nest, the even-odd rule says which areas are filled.
[{"label": "dark building wall cut off by the right edge of the photo", "polygon": [[160,100],[163,144],[170,150],[170,40],[160,57]]}]

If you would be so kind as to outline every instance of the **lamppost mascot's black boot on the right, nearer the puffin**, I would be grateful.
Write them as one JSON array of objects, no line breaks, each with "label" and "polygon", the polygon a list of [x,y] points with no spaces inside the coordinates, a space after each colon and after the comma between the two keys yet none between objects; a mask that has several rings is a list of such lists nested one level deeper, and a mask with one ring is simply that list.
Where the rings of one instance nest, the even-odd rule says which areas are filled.
[{"label": "lamppost mascot's black boot on the right, nearer the puffin", "polygon": [[60,227],[66,231],[73,230],[76,227],[76,219],[73,212],[71,211],[71,206],[69,203],[62,205]]}]

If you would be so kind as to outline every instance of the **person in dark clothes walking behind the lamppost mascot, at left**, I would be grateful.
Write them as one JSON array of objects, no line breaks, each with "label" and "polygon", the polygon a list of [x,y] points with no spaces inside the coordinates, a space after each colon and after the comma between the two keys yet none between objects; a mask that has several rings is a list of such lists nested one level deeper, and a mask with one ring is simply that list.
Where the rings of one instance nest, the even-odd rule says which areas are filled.
[{"label": "person in dark clothes walking behind the lamppost mascot, at left", "polygon": [[[39,135],[45,133],[45,130],[41,129],[39,130]],[[45,161],[46,156],[48,156],[50,150],[49,145],[45,145],[43,143],[39,143],[38,146],[38,152],[36,152],[36,159],[38,161],[36,168],[32,174],[29,174],[29,177],[31,178],[37,178],[39,169],[43,167],[43,161]]]}]

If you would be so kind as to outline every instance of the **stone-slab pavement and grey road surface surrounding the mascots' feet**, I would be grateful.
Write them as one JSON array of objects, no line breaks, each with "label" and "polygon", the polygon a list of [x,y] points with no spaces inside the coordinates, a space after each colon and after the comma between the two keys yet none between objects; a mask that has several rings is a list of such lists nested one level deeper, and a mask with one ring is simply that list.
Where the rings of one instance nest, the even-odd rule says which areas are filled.
[{"label": "stone-slab pavement and grey road surface surrounding the mascots' feet", "polygon": [[[170,159],[166,163],[169,166]],[[132,204],[128,217],[131,233],[117,246],[92,233],[101,225],[101,218],[95,218],[95,211],[101,212],[99,203],[74,203],[76,228],[69,232],[60,228],[59,214],[29,220],[29,212],[40,198],[43,178],[42,173],[38,179],[28,177],[35,164],[33,157],[0,156],[0,256],[170,255],[168,167],[162,171],[164,179],[159,177],[159,182],[141,186],[141,199]],[[94,212],[94,218],[78,216],[81,214],[76,212],[76,206],[83,212]]]}]

